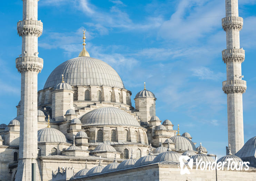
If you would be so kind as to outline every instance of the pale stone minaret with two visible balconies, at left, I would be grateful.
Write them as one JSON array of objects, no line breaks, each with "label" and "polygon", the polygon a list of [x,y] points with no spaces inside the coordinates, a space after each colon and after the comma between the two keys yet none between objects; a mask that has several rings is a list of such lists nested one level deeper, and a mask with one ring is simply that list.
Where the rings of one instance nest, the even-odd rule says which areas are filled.
[{"label": "pale stone minaret with two visible balconies, at left", "polygon": [[[22,37],[21,57],[16,59],[16,68],[21,73],[17,181],[31,180],[32,163],[37,163],[37,74],[43,68],[43,59],[38,57],[37,45],[43,23],[37,20],[37,4],[38,0],[23,0],[22,21],[17,23],[18,34]],[[36,178],[39,180],[40,176],[36,175]]]}]

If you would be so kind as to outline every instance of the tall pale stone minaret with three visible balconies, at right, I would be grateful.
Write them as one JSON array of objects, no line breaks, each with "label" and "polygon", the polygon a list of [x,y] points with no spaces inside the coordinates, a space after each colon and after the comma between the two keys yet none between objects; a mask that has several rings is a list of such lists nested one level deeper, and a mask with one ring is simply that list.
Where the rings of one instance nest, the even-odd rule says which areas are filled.
[{"label": "tall pale stone minaret with three visible balconies, at right", "polygon": [[222,89],[227,94],[228,143],[236,153],[244,145],[243,93],[246,81],[242,80],[241,64],[245,51],[240,48],[239,31],[243,27],[243,18],[238,16],[238,0],[226,0],[226,17],[222,19],[222,28],[226,31],[227,49],[222,51],[222,59],[227,66],[227,80]]}]

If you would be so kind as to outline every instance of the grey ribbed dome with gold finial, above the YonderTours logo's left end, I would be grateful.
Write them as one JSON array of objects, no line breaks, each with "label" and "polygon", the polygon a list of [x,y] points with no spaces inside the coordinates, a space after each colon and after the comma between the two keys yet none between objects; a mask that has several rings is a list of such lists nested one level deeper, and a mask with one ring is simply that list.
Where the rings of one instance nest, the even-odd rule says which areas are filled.
[{"label": "grey ribbed dome with gold finial, above the YonderTours logo's left end", "polygon": [[176,135],[171,137],[170,139],[175,143],[175,149],[177,151],[187,151],[188,148],[196,151],[196,147],[194,143],[190,139],[184,136]]}]

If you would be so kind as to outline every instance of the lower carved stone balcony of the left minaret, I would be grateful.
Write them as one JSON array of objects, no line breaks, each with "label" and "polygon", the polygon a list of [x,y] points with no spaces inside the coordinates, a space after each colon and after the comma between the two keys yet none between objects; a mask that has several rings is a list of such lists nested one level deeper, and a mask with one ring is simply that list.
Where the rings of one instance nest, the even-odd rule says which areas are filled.
[{"label": "lower carved stone balcony of the left minaret", "polygon": [[41,72],[43,59],[39,57],[19,57],[16,59],[16,68],[19,72],[34,71]]}]

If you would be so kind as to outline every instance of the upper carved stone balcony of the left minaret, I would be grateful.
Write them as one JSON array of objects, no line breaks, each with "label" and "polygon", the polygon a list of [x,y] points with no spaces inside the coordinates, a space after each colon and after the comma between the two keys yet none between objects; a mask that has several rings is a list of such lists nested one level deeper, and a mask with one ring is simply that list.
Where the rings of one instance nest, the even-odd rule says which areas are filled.
[{"label": "upper carved stone balcony of the left minaret", "polygon": [[41,20],[23,20],[17,23],[17,31],[19,36],[28,34],[40,37],[43,32],[43,23]]}]

